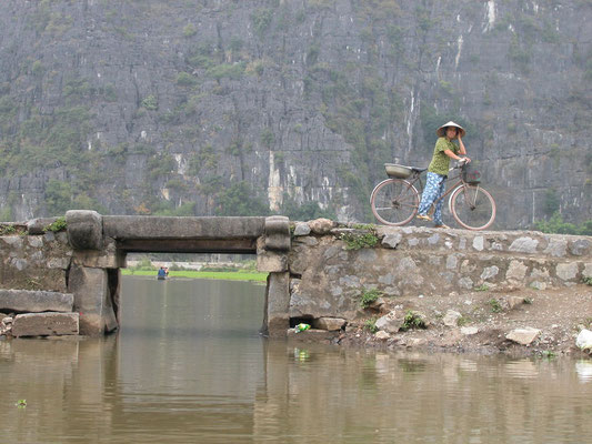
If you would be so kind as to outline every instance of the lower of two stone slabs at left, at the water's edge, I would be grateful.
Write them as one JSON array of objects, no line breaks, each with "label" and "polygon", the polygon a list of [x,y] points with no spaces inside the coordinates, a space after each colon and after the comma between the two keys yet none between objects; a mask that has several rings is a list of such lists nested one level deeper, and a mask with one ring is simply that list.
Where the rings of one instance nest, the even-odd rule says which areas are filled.
[{"label": "lower of two stone slabs at left, at the water's edge", "polygon": [[60,336],[79,333],[78,313],[18,314],[12,322],[12,335]]}]

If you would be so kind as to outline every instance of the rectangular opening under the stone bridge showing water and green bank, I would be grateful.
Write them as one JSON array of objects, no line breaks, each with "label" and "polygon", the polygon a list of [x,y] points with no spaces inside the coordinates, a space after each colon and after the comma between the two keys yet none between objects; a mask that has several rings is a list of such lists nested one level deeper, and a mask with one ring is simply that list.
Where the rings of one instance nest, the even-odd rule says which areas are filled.
[{"label": "rectangular opening under the stone bridge showing water and green bank", "polygon": [[[257,272],[254,254],[129,253],[121,274],[113,301],[121,331],[237,336],[264,329],[267,273]],[[137,305],[150,313],[136,313]]]}]

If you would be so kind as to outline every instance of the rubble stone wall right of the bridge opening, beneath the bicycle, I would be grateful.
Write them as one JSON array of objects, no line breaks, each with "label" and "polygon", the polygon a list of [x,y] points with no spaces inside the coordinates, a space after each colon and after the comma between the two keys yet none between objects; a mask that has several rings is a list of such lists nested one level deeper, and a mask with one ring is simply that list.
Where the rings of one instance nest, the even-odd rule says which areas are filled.
[{"label": "rubble stone wall right of the bridge opening, beneath the bicycle", "polygon": [[[289,254],[291,320],[353,319],[361,295],[546,289],[592,276],[592,238],[540,232],[348,228],[297,223]],[[365,241],[375,244],[355,249]]]}]

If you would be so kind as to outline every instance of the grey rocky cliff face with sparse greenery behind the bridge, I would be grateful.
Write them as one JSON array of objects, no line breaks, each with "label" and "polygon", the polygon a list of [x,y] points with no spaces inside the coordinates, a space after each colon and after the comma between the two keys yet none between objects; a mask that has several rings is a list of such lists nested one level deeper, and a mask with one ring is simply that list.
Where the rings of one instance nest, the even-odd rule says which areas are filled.
[{"label": "grey rocky cliff face with sparse greenery behind the bridge", "polygon": [[0,219],[373,222],[465,125],[498,229],[592,219],[590,0],[4,0]]}]

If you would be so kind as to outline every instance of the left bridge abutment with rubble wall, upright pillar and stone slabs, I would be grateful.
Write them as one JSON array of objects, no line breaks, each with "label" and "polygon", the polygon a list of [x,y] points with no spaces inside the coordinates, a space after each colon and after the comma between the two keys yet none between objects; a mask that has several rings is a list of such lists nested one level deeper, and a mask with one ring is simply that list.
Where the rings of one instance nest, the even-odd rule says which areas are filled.
[{"label": "left bridge abutment with rubble wall, upright pillar and stone slabs", "polygon": [[[87,245],[81,249],[72,243],[71,233],[63,228],[57,232],[50,230],[48,225],[56,220],[0,225],[0,233],[10,233],[0,236],[0,311],[10,314],[9,317],[16,315],[12,334],[99,335],[116,330],[118,269],[123,261],[114,242],[109,239],[101,242],[100,250],[88,250]],[[80,229],[74,222],[71,225]],[[79,234],[86,242],[94,240],[89,231],[79,230]],[[102,241],[102,233],[97,235]],[[71,307],[56,312],[48,304],[50,296],[56,295],[71,297]],[[36,304],[14,304],[11,301],[16,297],[30,299]]]}]

